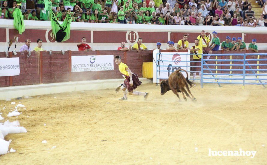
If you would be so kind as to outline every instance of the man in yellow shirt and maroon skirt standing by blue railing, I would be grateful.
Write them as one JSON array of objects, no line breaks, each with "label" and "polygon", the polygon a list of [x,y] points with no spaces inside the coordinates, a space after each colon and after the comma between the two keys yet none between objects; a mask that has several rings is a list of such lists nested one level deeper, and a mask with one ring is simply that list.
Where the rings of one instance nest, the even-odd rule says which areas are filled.
[{"label": "man in yellow shirt and maroon skirt standing by blue railing", "polygon": [[[199,44],[199,40],[195,39],[195,46],[192,46],[190,50],[190,53],[193,54],[193,61],[196,62],[190,62],[190,66],[201,66],[201,58],[203,54],[202,46]],[[195,81],[196,72],[201,71],[201,67],[191,67],[190,71],[193,71],[193,82]],[[201,77],[201,72],[199,72],[199,77]],[[201,80],[200,80],[201,84]]]}]

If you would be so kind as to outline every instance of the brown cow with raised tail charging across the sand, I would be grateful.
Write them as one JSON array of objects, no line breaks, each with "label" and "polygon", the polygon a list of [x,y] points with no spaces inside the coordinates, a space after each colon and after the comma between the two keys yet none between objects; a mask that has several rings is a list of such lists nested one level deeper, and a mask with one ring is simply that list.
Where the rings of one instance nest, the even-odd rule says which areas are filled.
[{"label": "brown cow with raised tail charging across the sand", "polygon": [[[160,83],[157,83],[157,84],[161,84],[161,95],[164,95],[167,91],[172,90],[173,93],[179,98],[179,101],[181,101],[181,100],[180,100],[180,97],[178,95],[178,92],[182,92],[183,98],[185,101],[187,101],[187,98],[184,96],[184,93],[192,101],[196,101],[196,98],[191,94],[191,91],[189,90],[189,87],[188,87],[188,84],[190,85],[190,88],[191,88],[194,83],[189,81],[187,71],[183,70],[183,71],[185,71],[185,73],[187,75],[187,77],[184,78],[184,75],[180,72],[181,70],[183,70],[183,69],[178,69],[178,70],[174,71],[173,73],[170,74],[169,79],[163,80]],[[185,88],[187,89],[189,94],[192,96],[192,98],[188,95]]]}]

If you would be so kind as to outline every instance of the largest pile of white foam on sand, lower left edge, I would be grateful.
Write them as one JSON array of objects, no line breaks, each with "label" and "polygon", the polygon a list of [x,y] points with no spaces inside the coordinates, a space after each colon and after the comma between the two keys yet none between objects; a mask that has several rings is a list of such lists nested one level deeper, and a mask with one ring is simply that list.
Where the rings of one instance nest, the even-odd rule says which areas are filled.
[{"label": "largest pile of white foam on sand, lower left edge", "polygon": [[[26,132],[27,130],[24,127],[19,127],[19,121],[9,122],[9,120],[7,120],[4,123],[0,123],[0,155],[4,155],[8,152],[10,142],[4,140],[4,137],[7,134],[18,134]],[[12,151],[13,150],[10,149],[10,152]]]}]

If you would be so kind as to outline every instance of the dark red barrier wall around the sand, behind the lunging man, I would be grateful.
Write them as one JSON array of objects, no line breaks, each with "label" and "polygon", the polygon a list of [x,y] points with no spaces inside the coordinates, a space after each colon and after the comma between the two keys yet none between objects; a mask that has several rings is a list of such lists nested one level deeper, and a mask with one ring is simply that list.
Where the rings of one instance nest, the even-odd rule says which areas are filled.
[{"label": "dark red barrier wall around the sand, behind the lunging man", "polygon": [[[118,79],[122,78],[118,65],[114,62],[114,70],[91,71],[91,72],[71,72],[71,56],[73,55],[120,55],[122,62],[142,77],[143,62],[152,61],[152,50],[122,52],[113,50],[103,51],[66,51],[62,55],[61,51],[32,52],[28,58],[26,52],[17,52],[14,56],[9,52],[8,58],[19,57],[20,75],[19,76],[1,76],[0,87],[33,85],[42,83],[97,80],[97,79]],[[0,52],[0,58],[6,58],[5,52]]]}]

